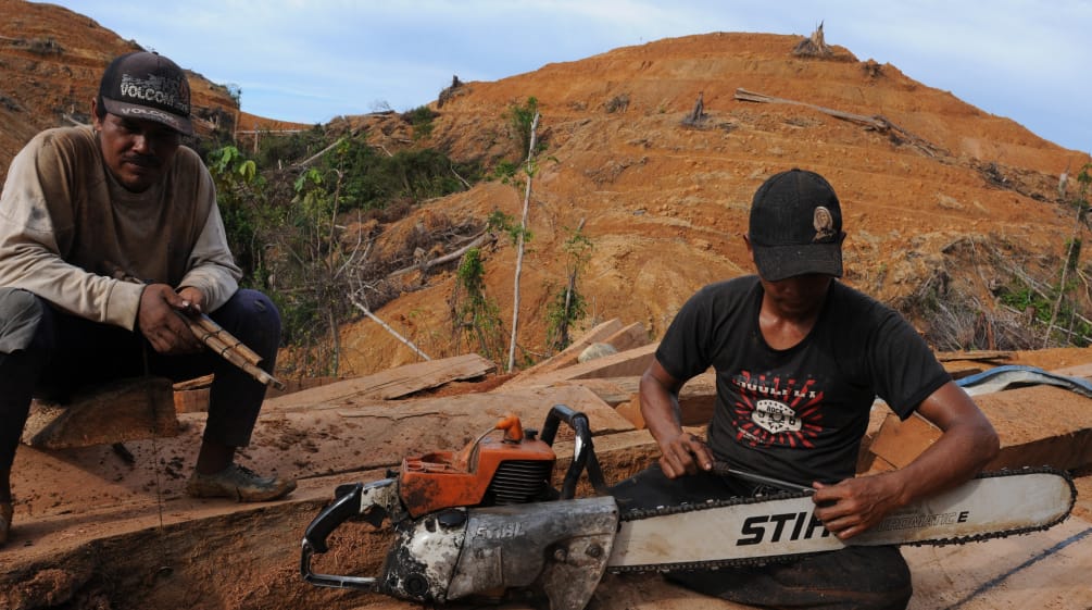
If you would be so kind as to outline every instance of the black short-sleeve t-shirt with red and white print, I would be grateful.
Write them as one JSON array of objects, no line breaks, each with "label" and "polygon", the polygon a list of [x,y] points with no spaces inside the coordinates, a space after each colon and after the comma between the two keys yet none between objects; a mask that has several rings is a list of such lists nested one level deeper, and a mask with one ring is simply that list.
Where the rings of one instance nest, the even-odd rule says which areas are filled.
[{"label": "black short-sleeve t-shirt with red and white print", "polygon": [[719,460],[800,484],[853,477],[877,396],[905,419],[951,379],[902,316],[838,281],[811,332],[774,350],[759,330],[762,294],[756,275],[701,289],[656,350],[677,379],[716,372]]}]

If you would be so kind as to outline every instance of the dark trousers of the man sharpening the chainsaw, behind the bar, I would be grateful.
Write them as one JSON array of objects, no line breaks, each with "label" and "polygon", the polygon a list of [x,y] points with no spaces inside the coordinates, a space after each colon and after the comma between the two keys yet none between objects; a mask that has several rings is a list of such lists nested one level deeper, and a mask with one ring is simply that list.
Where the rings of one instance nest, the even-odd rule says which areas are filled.
[{"label": "dark trousers of the man sharpening the chainsaw, behind the bar", "polygon": [[[709,473],[673,480],[658,466],[610,489],[622,512],[772,491]],[[670,572],[665,577],[709,596],[764,608],[895,610],[906,608],[913,593],[910,568],[895,547],[847,547],[798,560]]]}]

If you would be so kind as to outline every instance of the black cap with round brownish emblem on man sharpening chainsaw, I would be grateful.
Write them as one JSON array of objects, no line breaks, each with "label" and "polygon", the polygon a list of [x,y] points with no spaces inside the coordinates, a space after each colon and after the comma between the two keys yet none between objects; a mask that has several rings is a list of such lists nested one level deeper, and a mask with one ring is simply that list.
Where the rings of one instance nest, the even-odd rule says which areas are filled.
[{"label": "black cap with round brownish emblem on man sharpening chainsaw", "polygon": [[770,177],[751,201],[748,238],[762,279],[842,277],[842,207],[819,174],[793,168]]}]

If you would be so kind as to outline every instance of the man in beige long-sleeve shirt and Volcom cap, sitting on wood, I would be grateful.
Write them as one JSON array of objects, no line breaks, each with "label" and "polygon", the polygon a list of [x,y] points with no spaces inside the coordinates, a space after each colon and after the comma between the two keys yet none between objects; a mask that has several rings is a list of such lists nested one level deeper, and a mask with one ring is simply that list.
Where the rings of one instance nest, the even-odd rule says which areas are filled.
[{"label": "man in beige long-sleeve shirt and Volcom cap, sitting on wood", "polygon": [[235,464],[265,386],[205,350],[178,315],[207,313],[272,372],[280,314],[239,289],[212,177],[181,145],[193,133],[186,74],[156,54],[123,55],[91,109],[92,127],[35,137],[0,195],[0,544],[32,397],[109,379],[214,374],[190,495],[262,502],[296,486]]}]

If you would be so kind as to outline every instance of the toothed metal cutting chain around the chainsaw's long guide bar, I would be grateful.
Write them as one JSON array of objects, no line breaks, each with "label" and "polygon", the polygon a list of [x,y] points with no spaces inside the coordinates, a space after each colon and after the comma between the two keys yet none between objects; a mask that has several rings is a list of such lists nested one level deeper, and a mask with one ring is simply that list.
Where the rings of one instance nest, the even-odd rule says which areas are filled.
[{"label": "toothed metal cutting chain around the chainsaw's long guide bar", "polygon": [[[1049,466],[1043,467],[1025,467],[1019,470],[996,470],[990,472],[982,472],[974,477],[975,479],[992,479],[996,477],[1012,477],[1017,474],[1035,474],[1035,473],[1048,473],[1057,474],[1066,480],[1069,484],[1069,508],[1059,518],[1052,523],[1029,526],[1023,528],[1007,529],[1001,531],[995,531],[990,533],[976,533],[972,536],[960,536],[957,538],[941,538],[936,540],[922,540],[916,542],[904,542],[903,546],[906,547],[939,547],[946,544],[966,544],[968,542],[982,542],[984,540],[993,540],[997,538],[1008,538],[1010,536],[1020,536],[1023,533],[1031,533],[1034,531],[1042,531],[1054,527],[1055,525],[1061,523],[1067,517],[1069,513],[1073,509],[1073,505],[1077,503],[1077,486],[1073,484],[1073,478],[1068,471],[1058,470]],[[713,508],[723,508],[726,506],[737,506],[740,504],[753,504],[758,502],[768,502],[771,500],[787,500],[796,497],[805,497],[810,495],[808,492],[778,492],[770,495],[758,495],[755,497],[734,497],[729,500],[709,500],[704,503],[697,504],[679,504],[676,506],[658,506],[656,508],[638,508],[632,511],[627,511],[620,515],[622,521],[637,521],[641,519],[648,519],[652,517],[661,517],[664,515],[677,515],[680,513],[695,513],[699,511],[710,511]],[[827,551],[829,552],[829,551]],[[709,561],[697,561],[697,562],[685,562],[685,563],[670,563],[670,564],[648,564],[648,565],[626,565],[618,567],[608,567],[607,572],[613,574],[632,574],[640,572],[678,572],[678,571],[692,571],[692,570],[716,570],[720,567],[760,567],[771,563],[783,563],[787,561],[796,561],[803,558],[817,555],[822,553],[798,553],[792,555],[780,555],[780,556],[764,556],[764,558],[743,558],[743,559],[729,559],[729,560],[709,560]]]}]

